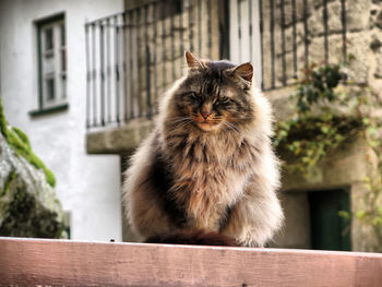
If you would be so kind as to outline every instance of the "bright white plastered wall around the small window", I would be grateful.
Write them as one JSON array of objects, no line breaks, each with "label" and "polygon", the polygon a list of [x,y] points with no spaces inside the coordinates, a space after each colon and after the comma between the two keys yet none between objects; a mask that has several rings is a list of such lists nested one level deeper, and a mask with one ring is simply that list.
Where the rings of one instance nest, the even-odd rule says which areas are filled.
[{"label": "bright white plastered wall around the small window", "polygon": [[[72,213],[72,238],[121,240],[118,156],[85,151],[85,21],[121,12],[122,0],[0,0],[0,87],[8,121],[24,130],[57,178],[59,199]],[[31,118],[37,109],[37,46],[34,21],[64,12],[68,111]]]}]

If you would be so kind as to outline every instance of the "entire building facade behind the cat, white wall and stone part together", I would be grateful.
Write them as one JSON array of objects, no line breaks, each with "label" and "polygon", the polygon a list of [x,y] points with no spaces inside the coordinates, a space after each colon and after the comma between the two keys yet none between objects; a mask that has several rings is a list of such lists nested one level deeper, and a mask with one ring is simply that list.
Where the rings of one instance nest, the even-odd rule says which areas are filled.
[{"label": "entire building facade behind the cat, white wall and stone part together", "polygon": [[[59,196],[73,213],[73,238],[88,238],[84,234],[96,230],[97,224],[105,227],[95,239],[109,234],[119,238],[114,232],[123,223],[121,171],[154,127],[160,96],[181,75],[184,49],[202,58],[251,61],[255,84],[272,101],[277,120],[290,115],[293,84],[312,63],[338,63],[351,53],[356,61],[349,76],[377,91],[382,87],[380,1],[62,1],[40,10],[34,1],[0,3],[13,11],[0,12],[5,112],[12,124],[31,134],[36,152],[56,171]],[[34,12],[26,12],[31,8]],[[62,11],[65,41],[60,39]],[[23,22],[16,24],[17,16]],[[46,16],[55,23],[47,23]],[[23,27],[23,37],[17,27]],[[38,31],[45,36],[52,31],[48,36],[53,44],[43,40],[38,46]],[[67,65],[59,58],[51,60],[56,43],[61,45],[58,51],[68,55]],[[47,69],[59,70],[56,85]],[[28,93],[33,96],[25,98]],[[38,116],[38,108],[57,99],[55,93],[70,100],[60,98],[60,111]],[[62,160],[57,151],[70,156]],[[275,246],[369,250],[370,230],[356,218],[344,225],[337,213],[362,207],[363,179],[375,170],[375,155],[355,139],[323,160],[314,178],[285,174],[280,198],[286,224]],[[126,226],[123,240],[134,240]]]}]

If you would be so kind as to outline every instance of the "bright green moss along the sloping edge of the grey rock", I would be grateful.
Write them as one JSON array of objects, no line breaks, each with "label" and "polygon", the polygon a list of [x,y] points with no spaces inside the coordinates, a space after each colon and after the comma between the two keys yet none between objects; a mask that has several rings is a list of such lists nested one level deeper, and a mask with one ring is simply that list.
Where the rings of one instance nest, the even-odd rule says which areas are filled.
[{"label": "bright green moss along the sloping edge of the grey rock", "polygon": [[0,98],[0,132],[7,139],[10,146],[16,152],[16,154],[23,156],[37,169],[43,169],[48,183],[51,187],[56,186],[55,175],[45,166],[41,159],[32,151],[29,140],[27,135],[17,128],[9,128],[5,119],[5,115],[2,109]]}]

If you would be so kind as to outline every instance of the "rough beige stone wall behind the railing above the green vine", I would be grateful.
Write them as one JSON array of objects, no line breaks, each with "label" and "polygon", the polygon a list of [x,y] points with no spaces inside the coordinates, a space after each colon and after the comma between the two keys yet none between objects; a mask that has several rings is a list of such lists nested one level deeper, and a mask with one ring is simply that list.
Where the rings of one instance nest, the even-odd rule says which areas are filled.
[{"label": "rough beige stone wall behind the railing above the green vine", "polygon": [[[294,25],[291,1],[284,1],[285,53],[282,44],[282,9],[280,0],[274,5],[274,47],[275,47],[275,84],[283,83],[283,57],[286,60],[286,77],[294,82]],[[308,37],[309,64],[323,63],[325,60],[324,1],[308,0],[305,9],[303,0],[296,0],[296,45],[297,75],[306,64],[305,40]],[[379,88],[382,85],[382,1],[346,0],[346,53],[355,60],[350,64],[350,79],[369,82]],[[303,15],[307,15],[308,34],[305,31]],[[264,86],[271,87],[271,11],[270,1],[263,1],[263,69]],[[327,59],[338,63],[343,55],[342,1],[327,0]]]}]

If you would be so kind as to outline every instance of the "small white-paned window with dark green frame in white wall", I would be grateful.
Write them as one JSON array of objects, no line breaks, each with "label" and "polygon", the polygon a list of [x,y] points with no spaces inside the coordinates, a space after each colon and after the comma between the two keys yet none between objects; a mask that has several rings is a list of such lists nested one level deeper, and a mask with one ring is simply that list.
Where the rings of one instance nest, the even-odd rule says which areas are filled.
[{"label": "small white-paned window with dark green frame in white wall", "polygon": [[38,110],[67,109],[67,40],[64,15],[36,22],[38,52]]}]

